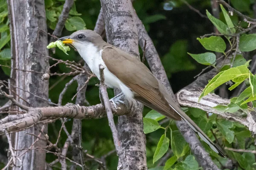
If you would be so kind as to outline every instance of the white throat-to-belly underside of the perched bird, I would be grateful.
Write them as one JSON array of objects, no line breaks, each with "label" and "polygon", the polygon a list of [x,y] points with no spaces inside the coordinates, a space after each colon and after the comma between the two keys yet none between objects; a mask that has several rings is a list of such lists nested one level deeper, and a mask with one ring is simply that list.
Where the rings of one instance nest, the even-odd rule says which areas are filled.
[{"label": "white throat-to-belly underside of the perched bird", "polygon": [[111,88],[119,88],[125,95],[126,99],[131,100],[133,98],[132,91],[118,79],[114,74],[112,74],[106,67],[104,61],[102,60],[102,50],[98,51],[97,47],[90,42],[84,42],[83,44],[78,42],[73,42],[74,47],[77,49],[81,57],[90,67],[91,71],[100,79],[99,77],[99,64],[102,64],[104,69],[105,84]]}]

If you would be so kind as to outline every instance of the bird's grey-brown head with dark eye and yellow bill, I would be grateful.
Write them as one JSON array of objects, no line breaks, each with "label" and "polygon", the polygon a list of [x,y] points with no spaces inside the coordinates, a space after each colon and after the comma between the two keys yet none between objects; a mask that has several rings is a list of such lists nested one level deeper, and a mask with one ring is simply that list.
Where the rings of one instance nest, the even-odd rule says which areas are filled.
[{"label": "bird's grey-brown head with dark eye and yellow bill", "polygon": [[79,30],[70,36],[62,37],[58,40],[61,40],[64,44],[73,45],[78,51],[84,49],[87,45],[105,43],[102,37],[92,30]]}]

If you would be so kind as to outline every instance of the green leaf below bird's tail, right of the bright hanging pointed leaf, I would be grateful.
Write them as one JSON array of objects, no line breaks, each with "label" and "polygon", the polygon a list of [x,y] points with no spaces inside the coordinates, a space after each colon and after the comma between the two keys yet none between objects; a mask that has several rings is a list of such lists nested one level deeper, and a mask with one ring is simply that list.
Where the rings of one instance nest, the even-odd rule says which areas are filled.
[{"label": "green leaf below bird's tail, right of the bright hanging pointed leaf", "polygon": [[180,131],[172,130],[171,139],[172,139],[171,140],[172,151],[175,154],[175,156],[177,156],[177,158],[184,156],[189,151],[189,144],[185,141],[183,136],[180,134]]}]

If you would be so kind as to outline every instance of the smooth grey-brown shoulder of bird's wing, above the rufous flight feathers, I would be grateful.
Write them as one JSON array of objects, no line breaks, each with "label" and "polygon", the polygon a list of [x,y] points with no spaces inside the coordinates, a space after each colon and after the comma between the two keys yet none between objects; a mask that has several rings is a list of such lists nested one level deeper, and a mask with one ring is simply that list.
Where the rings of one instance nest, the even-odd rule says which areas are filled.
[{"label": "smooth grey-brown shoulder of bird's wing, above the rufous flight feathers", "polygon": [[158,88],[158,81],[140,60],[116,47],[102,50],[102,59],[108,70],[125,85],[136,84],[145,89]]}]

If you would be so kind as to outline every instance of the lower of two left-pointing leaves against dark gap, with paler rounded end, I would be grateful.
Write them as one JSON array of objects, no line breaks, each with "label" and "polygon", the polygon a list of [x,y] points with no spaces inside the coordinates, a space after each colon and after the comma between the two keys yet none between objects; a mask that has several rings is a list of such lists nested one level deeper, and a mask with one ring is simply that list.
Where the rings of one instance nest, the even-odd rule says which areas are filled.
[{"label": "lower of two left-pointing leaves against dark gap, with paler rounded end", "polygon": [[204,54],[190,54],[193,59],[203,65],[212,65],[216,61],[216,55],[214,53],[204,53]]}]

